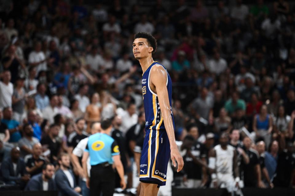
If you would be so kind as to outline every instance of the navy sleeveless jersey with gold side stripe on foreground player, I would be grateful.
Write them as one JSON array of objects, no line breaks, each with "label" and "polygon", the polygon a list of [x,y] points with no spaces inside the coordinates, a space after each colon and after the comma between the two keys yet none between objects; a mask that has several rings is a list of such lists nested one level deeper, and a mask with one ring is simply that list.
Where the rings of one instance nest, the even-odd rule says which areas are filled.
[{"label": "navy sleeveless jersey with gold side stripe on foreground player", "polygon": [[[160,110],[158,95],[152,92],[150,87],[150,71],[152,66],[160,65],[158,62],[153,62],[148,69],[144,72],[142,76],[142,96],[144,102],[144,112],[145,112],[145,130],[163,130],[165,129],[163,116]],[[162,65],[160,65],[162,66]],[[165,69],[165,67],[163,66]],[[166,69],[165,69],[166,70]],[[167,72],[167,70],[166,70]],[[171,77],[167,72],[167,91],[169,97],[170,106],[172,104],[172,82]],[[171,117],[174,125],[173,112],[171,109]]]}]

